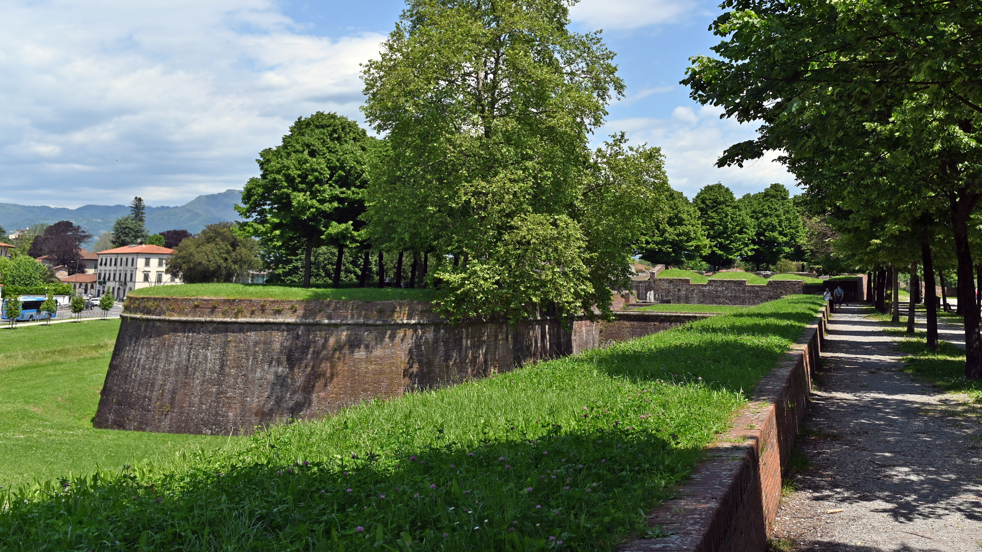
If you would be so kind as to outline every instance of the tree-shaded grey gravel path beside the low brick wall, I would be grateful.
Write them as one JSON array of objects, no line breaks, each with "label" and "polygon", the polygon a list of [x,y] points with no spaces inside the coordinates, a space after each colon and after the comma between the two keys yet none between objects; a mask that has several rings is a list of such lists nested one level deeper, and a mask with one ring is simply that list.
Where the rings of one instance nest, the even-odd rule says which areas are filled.
[{"label": "tree-shaded grey gravel path beside the low brick wall", "polygon": [[830,321],[798,441],[810,468],[772,537],[799,551],[982,552],[982,419],[900,371],[870,312],[846,305]]}]

